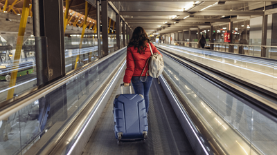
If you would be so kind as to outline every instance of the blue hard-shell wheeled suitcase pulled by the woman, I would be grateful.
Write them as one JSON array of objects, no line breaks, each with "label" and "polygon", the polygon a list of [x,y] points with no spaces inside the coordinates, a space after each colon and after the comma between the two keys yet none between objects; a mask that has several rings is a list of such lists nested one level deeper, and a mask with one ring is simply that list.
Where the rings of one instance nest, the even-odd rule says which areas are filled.
[{"label": "blue hard-shell wheeled suitcase pulled by the woman", "polygon": [[[127,141],[143,141],[148,135],[148,118],[145,101],[141,94],[121,94],[114,99],[114,134],[117,144]],[[129,86],[132,93],[131,86]]]}]

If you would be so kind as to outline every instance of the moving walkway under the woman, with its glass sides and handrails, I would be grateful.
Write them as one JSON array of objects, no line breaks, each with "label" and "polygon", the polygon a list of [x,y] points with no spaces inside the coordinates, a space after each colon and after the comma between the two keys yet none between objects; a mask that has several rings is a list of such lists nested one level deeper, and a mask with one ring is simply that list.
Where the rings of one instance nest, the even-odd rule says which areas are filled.
[{"label": "moving walkway under the woman, with its glass sides and handrails", "polygon": [[[126,48],[0,104],[3,154],[274,154],[276,101],[160,50],[161,85],[150,90],[149,138],[116,145],[112,104]],[[19,141],[17,141],[19,140]],[[12,144],[12,145],[11,145]]]}]

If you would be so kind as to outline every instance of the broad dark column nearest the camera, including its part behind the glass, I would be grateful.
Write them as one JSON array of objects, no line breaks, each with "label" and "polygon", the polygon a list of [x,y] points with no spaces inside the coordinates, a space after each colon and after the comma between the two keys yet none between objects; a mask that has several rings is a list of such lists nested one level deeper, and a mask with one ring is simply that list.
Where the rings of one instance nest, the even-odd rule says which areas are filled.
[{"label": "broad dark column nearest the camera, including its part behind the glass", "polygon": [[[35,43],[39,43],[35,45],[37,84],[43,86],[65,75],[63,1],[33,0],[33,14]],[[66,120],[66,92],[66,85],[63,85],[39,99],[39,110],[45,110],[44,114],[50,111],[48,117],[39,120],[41,130],[45,119],[52,123]]]}]

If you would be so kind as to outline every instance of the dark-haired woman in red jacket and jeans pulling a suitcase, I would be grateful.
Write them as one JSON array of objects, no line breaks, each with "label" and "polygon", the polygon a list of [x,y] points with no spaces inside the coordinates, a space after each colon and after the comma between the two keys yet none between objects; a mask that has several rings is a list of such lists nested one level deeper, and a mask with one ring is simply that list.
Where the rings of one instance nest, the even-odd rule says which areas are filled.
[{"label": "dark-haired woman in red jacket and jeans pulling a suitcase", "polygon": [[[123,79],[125,86],[128,86],[132,81],[134,92],[144,96],[146,112],[148,112],[149,109],[148,93],[152,84],[152,77],[149,76],[149,74],[146,76],[146,72],[148,72],[148,64],[143,72],[143,68],[148,61],[148,58],[151,56],[148,43],[150,43],[150,40],[148,39],[145,30],[141,27],[135,28],[132,39],[129,40],[127,46],[127,68]],[[150,43],[150,45],[153,53],[157,52],[161,54],[152,43]],[[141,72],[143,72],[142,77]]]}]

